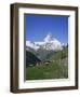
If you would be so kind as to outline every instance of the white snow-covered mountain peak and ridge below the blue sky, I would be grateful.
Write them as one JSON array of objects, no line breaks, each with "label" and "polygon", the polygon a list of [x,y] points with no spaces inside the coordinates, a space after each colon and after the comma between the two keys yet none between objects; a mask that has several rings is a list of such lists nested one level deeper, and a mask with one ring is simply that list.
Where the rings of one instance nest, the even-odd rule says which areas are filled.
[{"label": "white snow-covered mountain peak and ridge below the blue sky", "polygon": [[53,51],[63,50],[63,44],[57,39],[53,38],[51,33],[46,34],[43,41],[40,41],[40,42],[26,41],[26,46],[29,46],[36,51],[38,48],[44,48],[49,51],[50,50],[53,50]]}]

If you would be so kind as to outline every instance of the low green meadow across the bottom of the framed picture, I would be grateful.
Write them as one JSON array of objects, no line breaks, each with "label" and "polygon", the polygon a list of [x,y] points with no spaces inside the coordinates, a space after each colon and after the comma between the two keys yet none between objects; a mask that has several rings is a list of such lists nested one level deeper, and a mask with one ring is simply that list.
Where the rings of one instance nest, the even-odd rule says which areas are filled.
[{"label": "low green meadow across the bottom of the framed picture", "polygon": [[26,80],[44,80],[44,79],[67,79],[68,67],[59,60],[50,65],[28,67],[26,69]]}]

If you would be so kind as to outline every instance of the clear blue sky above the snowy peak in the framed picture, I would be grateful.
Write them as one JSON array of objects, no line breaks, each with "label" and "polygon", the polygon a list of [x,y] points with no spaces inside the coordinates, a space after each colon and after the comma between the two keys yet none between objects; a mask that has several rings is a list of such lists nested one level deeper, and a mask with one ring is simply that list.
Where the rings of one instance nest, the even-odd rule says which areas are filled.
[{"label": "clear blue sky above the snowy peak in the framed picture", "polygon": [[42,41],[48,33],[62,43],[68,43],[68,17],[67,16],[44,16],[25,15],[26,40]]}]

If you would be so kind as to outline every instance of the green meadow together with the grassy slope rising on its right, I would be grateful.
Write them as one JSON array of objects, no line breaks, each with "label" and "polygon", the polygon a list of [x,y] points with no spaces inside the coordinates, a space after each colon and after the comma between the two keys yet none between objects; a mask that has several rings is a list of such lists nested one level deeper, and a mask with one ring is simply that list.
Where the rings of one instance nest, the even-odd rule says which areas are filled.
[{"label": "green meadow together with the grassy slope rising on its right", "polygon": [[68,78],[68,47],[51,53],[46,56],[49,65],[41,63],[39,66],[26,68],[26,80],[67,79]]}]

